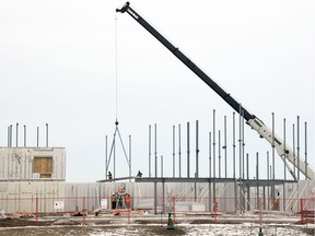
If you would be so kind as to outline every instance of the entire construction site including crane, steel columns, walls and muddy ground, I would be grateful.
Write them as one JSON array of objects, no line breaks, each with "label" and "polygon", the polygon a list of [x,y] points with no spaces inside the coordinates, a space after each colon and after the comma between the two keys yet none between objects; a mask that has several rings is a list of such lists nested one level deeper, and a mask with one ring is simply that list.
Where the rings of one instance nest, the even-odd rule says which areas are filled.
[{"label": "entire construction site including crane, steel columns, walls and muddy ground", "polygon": [[[27,145],[26,126],[21,135],[19,123],[9,125],[8,144],[0,146],[0,235],[20,235],[21,227],[25,235],[37,236],[314,235],[315,170],[308,157],[314,140],[308,140],[307,121],[298,115],[289,128],[285,119],[276,125],[271,113],[268,127],[129,2],[116,14],[158,39],[232,108],[231,117],[222,119],[213,109],[206,139],[199,120],[174,125],[172,157],[158,154],[158,127],[149,125],[145,168],[138,170],[132,167],[131,135],[126,145],[120,134],[116,88],[115,132],[106,134],[103,178],[93,182],[67,181],[67,148],[49,144],[48,123],[44,142],[37,127],[35,146]],[[275,126],[283,127],[283,133],[276,133]],[[253,140],[245,129],[269,149],[249,156],[245,141],[252,145]],[[200,149],[207,154],[200,156]],[[122,175],[117,170],[121,166]]]}]

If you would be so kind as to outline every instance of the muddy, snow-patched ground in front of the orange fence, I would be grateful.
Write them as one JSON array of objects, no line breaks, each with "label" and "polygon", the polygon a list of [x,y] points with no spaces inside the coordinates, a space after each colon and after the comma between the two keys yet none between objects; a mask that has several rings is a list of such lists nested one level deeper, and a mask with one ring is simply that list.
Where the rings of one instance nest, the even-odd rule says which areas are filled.
[{"label": "muddy, snow-patched ground in front of the orange fence", "polygon": [[[40,215],[38,221],[34,215],[23,216],[7,216],[7,219],[0,220],[0,236],[20,236],[23,235],[32,236],[48,236],[48,235],[191,235],[191,231],[195,231],[192,235],[209,235],[209,229],[207,227],[220,228],[231,227],[233,232],[234,228],[248,227],[252,231],[258,231],[259,227],[259,215],[257,214],[244,214],[244,215],[176,215],[176,227],[175,229],[167,229],[167,216],[159,215],[132,215],[130,219],[130,224],[127,223],[128,217],[126,215],[88,215],[83,217],[82,215],[69,216],[69,215]],[[84,227],[82,223],[84,222]],[[244,226],[244,223],[247,226]],[[296,215],[264,215],[262,216],[264,231],[267,233],[275,233],[278,231],[277,235],[314,235],[314,227],[307,228],[300,225],[300,217]],[[180,224],[184,224],[180,225]],[[218,224],[218,225],[217,225]],[[222,226],[220,226],[220,224]],[[250,226],[248,226],[250,224]],[[281,225],[283,224],[283,225]],[[203,226],[205,225],[205,226]],[[229,226],[231,225],[231,226]],[[238,225],[238,226],[237,226]],[[256,225],[256,226],[255,226]],[[255,229],[256,227],[256,229]],[[201,231],[200,228],[206,228],[202,233],[197,233],[196,231]],[[278,228],[278,229],[277,229]],[[280,234],[280,229],[285,228],[285,234]],[[219,229],[218,229],[219,231]],[[293,233],[288,233],[289,231],[294,231]],[[212,234],[210,234],[212,235]],[[219,234],[214,235],[229,235]],[[234,235],[234,234],[233,234]],[[235,234],[238,235],[238,234]],[[242,235],[242,234],[241,234]],[[248,235],[248,234],[247,234]],[[252,235],[252,234],[249,234]]]}]

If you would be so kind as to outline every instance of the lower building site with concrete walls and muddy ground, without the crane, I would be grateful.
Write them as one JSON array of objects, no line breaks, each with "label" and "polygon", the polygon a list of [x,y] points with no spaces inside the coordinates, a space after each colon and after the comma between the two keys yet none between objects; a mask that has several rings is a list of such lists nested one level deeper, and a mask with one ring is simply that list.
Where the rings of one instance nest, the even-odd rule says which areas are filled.
[{"label": "lower building site with concrete walls and muddy ground, without the crane", "polygon": [[62,179],[63,148],[0,151],[1,172],[9,169],[0,184],[0,234],[19,235],[15,228],[25,226],[30,235],[44,235],[47,229],[34,229],[40,226],[60,235],[220,235],[222,231],[312,235],[314,231],[313,180],[112,176],[71,184]]}]

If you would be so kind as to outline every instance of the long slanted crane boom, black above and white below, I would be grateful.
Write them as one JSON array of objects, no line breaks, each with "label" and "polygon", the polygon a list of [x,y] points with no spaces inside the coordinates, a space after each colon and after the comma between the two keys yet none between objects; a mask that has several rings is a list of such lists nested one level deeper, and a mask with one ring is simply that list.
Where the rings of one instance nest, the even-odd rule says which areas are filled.
[{"label": "long slanted crane boom, black above and white below", "polygon": [[[301,158],[296,158],[294,152],[288,145],[284,146],[282,140],[275,134],[275,132],[269,129],[260,119],[255,115],[250,114],[241,104],[237,103],[230,93],[226,93],[222,87],[220,87],[212,79],[210,79],[198,66],[196,66],[188,57],[186,57],[177,47],[175,47],[171,42],[168,42],[163,35],[161,35],[151,24],[149,24],[141,15],[139,15],[131,7],[129,2],[120,9],[116,9],[116,12],[125,13],[127,12],[131,17],[133,17],[139,24],[141,24],[150,34],[152,34],[161,44],[163,44],[172,54],[174,54],[186,67],[188,67],[195,74],[197,74],[206,84],[208,84],[219,96],[221,96],[234,110],[244,117],[246,123],[254,130],[256,130],[259,137],[266,139],[271,146],[275,146],[277,153],[285,162],[289,160],[303,175],[308,179],[315,179],[314,169],[304,163]],[[290,174],[296,179],[292,168],[285,162]]]}]

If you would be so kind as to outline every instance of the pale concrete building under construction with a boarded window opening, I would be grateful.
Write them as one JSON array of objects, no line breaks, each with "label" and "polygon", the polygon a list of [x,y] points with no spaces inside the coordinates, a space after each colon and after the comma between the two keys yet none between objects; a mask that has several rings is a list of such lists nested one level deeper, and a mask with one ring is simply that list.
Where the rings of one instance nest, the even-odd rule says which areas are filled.
[{"label": "pale concrete building under construction with a boarded window opening", "polygon": [[260,209],[299,213],[301,199],[312,200],[315,193],[314,180],[261,179],[259,175],[192,178],[155,173],[71,184],[66,181],[65,148],[1,148],[0,160],[0,209],[5,213],[133,209],[160,214],[174,206],[176,212],[244,213]]}]

